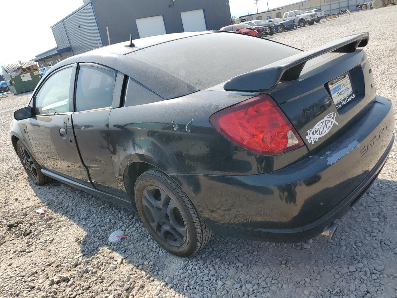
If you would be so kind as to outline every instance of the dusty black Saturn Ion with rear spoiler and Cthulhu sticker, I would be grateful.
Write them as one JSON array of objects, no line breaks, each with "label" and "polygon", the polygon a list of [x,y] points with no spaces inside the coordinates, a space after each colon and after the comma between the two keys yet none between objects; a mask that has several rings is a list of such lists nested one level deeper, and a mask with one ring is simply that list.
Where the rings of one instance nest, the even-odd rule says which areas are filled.
[{"label": "dusty black Saturn Ion with rear spoiler and Cthulhu sticker", "polygon": [[394,141],[391,101],[357,49],[367,43],[361,33],[301,51],[206,31],[106,46],[47,72],[14,113],[12,144],[35,184],[137,210],[175,255],[212,233],[333,234]]}]

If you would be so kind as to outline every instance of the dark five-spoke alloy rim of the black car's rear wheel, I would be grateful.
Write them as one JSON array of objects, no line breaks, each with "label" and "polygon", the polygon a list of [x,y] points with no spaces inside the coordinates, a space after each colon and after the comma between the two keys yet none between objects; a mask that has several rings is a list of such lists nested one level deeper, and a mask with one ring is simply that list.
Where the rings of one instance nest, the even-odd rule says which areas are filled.
[{"label": "dark five-spoke alloy rim of the black car's rear wheel", "polygon": [[142,194],[143,213],[156,234],[172,246],[187,238],[186,224],[172,197],[158,186],[147,186]]}]

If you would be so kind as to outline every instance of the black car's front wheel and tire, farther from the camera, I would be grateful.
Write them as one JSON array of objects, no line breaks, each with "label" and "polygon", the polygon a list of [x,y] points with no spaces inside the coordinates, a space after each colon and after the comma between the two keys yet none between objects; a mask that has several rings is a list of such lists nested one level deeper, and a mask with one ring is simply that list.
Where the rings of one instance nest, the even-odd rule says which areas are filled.
[{"label": "black car's front wheel and tire, farther from the camera", "polygon": [[35,158],[31,155],[29,150],[23,145],[23,143],[18,140],[17,141],[17,154],[23,169],[25,170],[26,174],[29,178],[33,181],[36,185],[43,185],[46,184],[50,178],[45,176],[41,172],[41,166]]}]

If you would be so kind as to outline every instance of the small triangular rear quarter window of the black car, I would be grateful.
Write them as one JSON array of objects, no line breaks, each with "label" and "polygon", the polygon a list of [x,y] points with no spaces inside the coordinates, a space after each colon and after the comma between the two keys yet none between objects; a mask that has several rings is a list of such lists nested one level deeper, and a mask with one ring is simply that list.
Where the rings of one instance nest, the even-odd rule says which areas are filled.
[{"label": "small triangular rear quarter window of the black car", "polygon": [[146,88],[141,83],[129,78],[125,91],[124,106],[137,106],[145,103],[156,103],[164,100],[162,97]]}]

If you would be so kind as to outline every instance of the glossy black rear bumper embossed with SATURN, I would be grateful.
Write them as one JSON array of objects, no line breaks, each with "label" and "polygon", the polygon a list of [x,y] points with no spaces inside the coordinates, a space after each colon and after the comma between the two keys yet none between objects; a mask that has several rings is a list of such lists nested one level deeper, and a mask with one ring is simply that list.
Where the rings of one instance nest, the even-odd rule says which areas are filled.
[{"label": "glossy black rear bumper embossed with SATURN", "polygon": [[370,110],[316,155],[257,175],[172,176],[220,236],[299,242],[341,218],[370,187],[394,141],[391,102]]}]

